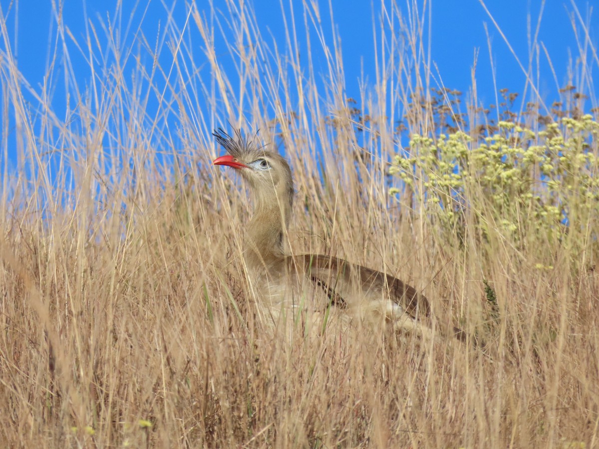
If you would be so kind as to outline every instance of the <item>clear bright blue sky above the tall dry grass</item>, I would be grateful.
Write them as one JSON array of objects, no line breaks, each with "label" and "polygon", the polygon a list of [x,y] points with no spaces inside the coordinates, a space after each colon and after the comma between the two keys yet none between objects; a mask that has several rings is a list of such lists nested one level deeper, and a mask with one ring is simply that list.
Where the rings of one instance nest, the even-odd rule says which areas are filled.
[{"label": "clear bright blue sky above the tall dry grass", "polygon": [[[44,82],[44,74],[48,66],[49,54],[53,53],[53,45],[56,43],[56,24],[53,23],[52,2],[40,0],[17,0],[16,2],[1,0],[1,16],[7,23],[8,41],[11,52],[16,56],[18,68],[28,80],[29,84],[37,88]],[[290,4],[292,3],[292,6]],[[386,2],[388,3],[388,2]],[[407,10],[407,3],[400,2],[400,7]],[[504,0],[488,1],[489,13],[497,22],[504,33],[513,52],[509,49],[500,31],[493,23],[489,13],[478,0],[456,1],[432,1],[432,28],[431,28],[431,52],[432,62],[438,69],[438,74],[443,84],[450,89],[458,89],[468,92],[471,86],[471,69],[474,62],[474,54],[478,52],[476,68],[476,80],[479,100],[485,104],[495,103],[495,86],[493,83],[491,60],[497,74],[497,89],[507,87],[513,92],[522,92],[525,85],[525,75],[519,66],[516,57],[524,66],[528,65],[530,44],[528,32],[534,33],[541,5],[538,0]],[[371,83],[374,83],[374,56],[373,56],[373,11],[380,11],[380,2],[370,1],[338,1],[331,0],[333,10],[333,21],[335,28],[341,38],[343,48],[343,59],[348,96],[359,96],[359,78],[361,71]],[[422,2],[420,2],[422,4]],[[68,26],[75,39],[83,42],[86,36],[87,23],[92,23],[97,29],[101,28],[102,22],[106,23],[108,17],[114,20],[116,1],[83,1],[69,0],[63,7],[63,20]],[[208,11],[209,2],[198,1],[196,5],[199,10]],[[323,23],[328,33],[329,43],[332,42],[331,22],[329,17],[328,1],[320,2]],[[214,2],[214,7],[226,11],[225,2]],[[285,22],[282,20],[282,5],[280,2],[254,1],[252,7],[255,10],[259,28],[263,36],[272,35],[277,41],[283,42],[285,36]],[[302,5],[301,2],[284,2],[283,8],[286,17],[291,15],[293,8],[296,23],[301,26]],[[189,10],[185,2],[159,2],[156,0],[140,0],[137,4],[126,0],[123,5],[123,13],[117,20],[117,28],[126,30],[128,24],[131,30],[129,38],[133,38],[135,29],[141,23],[141,29],[150,40],[156,40],[156,36],[164,32],[165,17],[168,11],[172,11],[174,22],[183,28]],[[131,16],[131,11],[135,11]],[[226,13],[225,13],[226,14]],[[563,87],[568,83],[568,70],[576,69],[579,46],[584,45],[582,41],[585,33],[582,31],[580,18],[588,26],[590,43],[594,48],[599,47],[599,12],[591,14],[591,7],[587,1],[550,0],[544,4],[541,26],[537,41],[543,43],[551,58],[553,71],[544,56],[540,58],[541,75],[539,86],[541,96],[547,102],[558,99],[558,86]],[[580,15],[580,17],[578,16]],[[131,16],[131,17],[130,17]],[[576,24],[576,32],[572,25]],[[530,25],[529,25],[530,22]],[[485,32],[485,25],[487,32]],[[195,25],[190,22],[190,28]],[[102,33],[100,33],[102,35]],[[492,44],[489,54],[488,38]],[[7,43],[4,38],[0,41],[0,51],[6,51]],[[72,67],[75,78],[81,79],[81,86],[87,83],[89,68],[83,59],[77,59],[77,51],[71,51]],[[164,51],[162,62],[170,66],[168,51]],[[201,52],[198,51],[201,56]],[[594,86],[597,80],[597,60],[592,60],[592,52],[588,51],[591,58],[587,66],[594,69],[594,73],[588,78],[587,83]],[[596,56],[595,56],[596,58]],[[316,67],[316,71],[325,72],[325,65]],[[434,69],[436,74],[437,70]],[[57,103],[53,105],[60,111],[60,102],[64,102],[65,96],[60,95],[64,81],[59,77],[55,79],[55,97]],[[585,92],[594,96],[594,90]],[[588,108],[591,108],[589,102]],[[10,115],[10,113],[9,113]],[[226,118],[224,118],[226,120]],[[2,151],[4,153],[4,151]],[[0,159],[4,154],[0,153]],[[11,155],[8,156],[11,159]],[[0,168],[5,161],[0,160]],[[0,171],[2,172],[2,171]]]}]

